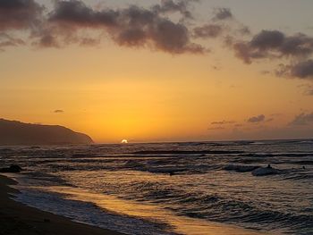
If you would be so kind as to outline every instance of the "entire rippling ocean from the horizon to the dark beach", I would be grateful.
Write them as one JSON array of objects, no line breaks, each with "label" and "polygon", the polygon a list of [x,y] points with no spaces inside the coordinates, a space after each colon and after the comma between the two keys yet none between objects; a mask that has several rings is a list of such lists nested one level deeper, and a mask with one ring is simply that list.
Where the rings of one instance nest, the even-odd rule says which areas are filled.
[{"label": "entire rippling ocean from the horizon to the dark beach", "polygon": [[126,234],[313,234],[313,140],[0,147],[9,164],[15,200]]}]

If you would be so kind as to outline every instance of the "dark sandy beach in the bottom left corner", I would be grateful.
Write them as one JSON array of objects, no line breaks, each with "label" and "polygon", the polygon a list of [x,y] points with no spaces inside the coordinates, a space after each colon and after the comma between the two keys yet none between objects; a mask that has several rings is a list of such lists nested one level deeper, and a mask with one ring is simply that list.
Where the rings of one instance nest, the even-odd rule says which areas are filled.
[{"label": "dark sandy beach in the bottom left corner", "polygon": [[9,187],[13,184],[16,184],[16,181],[0,175],[0,235],[123,235],[116,231],[72,222],[63,216],[40,211],[16,202],[9,195],[18,192],[17,189]]}]

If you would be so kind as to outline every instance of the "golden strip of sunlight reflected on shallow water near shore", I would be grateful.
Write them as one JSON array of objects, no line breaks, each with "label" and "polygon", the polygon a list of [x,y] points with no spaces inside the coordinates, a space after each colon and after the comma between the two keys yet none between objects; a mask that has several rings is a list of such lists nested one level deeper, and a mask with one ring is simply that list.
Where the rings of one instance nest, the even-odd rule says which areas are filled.
[{"label": "golden strip of sunlight reflected on shallow water near shore", "polygon": [[[36,188],[38,189],[38,187]],[[156,205],[136,203],[108,196],[95,194],[83,189],[73,189],[70,187],[47,187],[41,188],[49,192],[62,193],[70,200],[79,200],[93,203],[106,211],[114,214],[125,214],[128,216],[140,217],[146,220],[154,218],[155,222],[165,222],[173,228],[174,232],[189,235],[262,235],[266,232],[251,231],[241,229],[233,225],[225,225],[217,222],[207,222],[195,220],[185,216],[177,216],[170,211]]]}]

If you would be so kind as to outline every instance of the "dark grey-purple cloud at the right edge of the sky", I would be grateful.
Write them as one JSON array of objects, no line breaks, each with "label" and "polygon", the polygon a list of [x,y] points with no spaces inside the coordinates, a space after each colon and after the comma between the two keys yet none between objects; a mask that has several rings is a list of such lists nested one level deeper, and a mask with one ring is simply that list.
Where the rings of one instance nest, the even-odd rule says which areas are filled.
[{"label": "dark grey-purple cloud at the right edge of the sky", "polygon": [[312,79],[313,38],[298,33],[287,36],[279,30],[262,30],[248,41],[226,38],[225,43],[233,48],[234,54],[244,63],[258,60],[287,59],[290,64],[280,64],[275,75],[280,77]]}]

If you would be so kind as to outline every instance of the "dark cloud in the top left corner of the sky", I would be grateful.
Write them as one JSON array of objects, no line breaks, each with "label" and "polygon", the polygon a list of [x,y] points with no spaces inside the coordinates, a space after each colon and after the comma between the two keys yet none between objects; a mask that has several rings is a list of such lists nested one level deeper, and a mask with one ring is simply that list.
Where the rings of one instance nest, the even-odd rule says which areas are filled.
[{"label": "dark cloud in the top left corner of the sky", "polygon": [[42,11],[43,7],[33,0],[0,0],[0,31],[32,29]]}]

